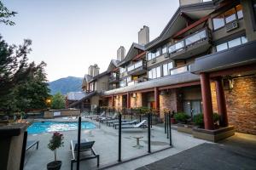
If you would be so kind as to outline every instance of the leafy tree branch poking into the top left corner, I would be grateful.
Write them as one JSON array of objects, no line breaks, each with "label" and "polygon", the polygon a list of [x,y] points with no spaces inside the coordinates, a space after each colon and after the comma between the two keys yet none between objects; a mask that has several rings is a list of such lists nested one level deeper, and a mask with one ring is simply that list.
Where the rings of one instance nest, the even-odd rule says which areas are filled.
[{"label": "leafy tree branch poking into the top left corner", "polygon": [[3,3],[0,1],[0,22],[3,22],[3,24],[14,26],[15,22],[12,20],[9,20],[9,18],[15,16],[17,14],[14,11],[9,11],[8,8],[4,7]]}]

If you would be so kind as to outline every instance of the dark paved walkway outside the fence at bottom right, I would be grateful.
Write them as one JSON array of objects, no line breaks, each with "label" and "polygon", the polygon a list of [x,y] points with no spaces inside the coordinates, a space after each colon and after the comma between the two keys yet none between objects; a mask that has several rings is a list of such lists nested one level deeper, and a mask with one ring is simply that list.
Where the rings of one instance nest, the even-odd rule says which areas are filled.
[{"label": "dark paved walkway outside the fence at bottom right", "polygon": [[219,144],[200,144],[137,170],[256,169],[256,136],[236,133]]}]

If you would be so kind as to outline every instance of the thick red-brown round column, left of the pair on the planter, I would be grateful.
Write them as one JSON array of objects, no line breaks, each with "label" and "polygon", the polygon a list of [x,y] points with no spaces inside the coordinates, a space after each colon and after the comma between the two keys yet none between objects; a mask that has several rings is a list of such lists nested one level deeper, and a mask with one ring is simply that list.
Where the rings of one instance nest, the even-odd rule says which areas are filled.
[{"label": "thick red-brown round column, left of the pair on the planter", "polygon": [[210,87],[210,78],[207,73],[200,74],[201,79],[201,97],[203,103],[204,123],[208,130],[213,129],[213,114],[212,114],[212,95]]}]

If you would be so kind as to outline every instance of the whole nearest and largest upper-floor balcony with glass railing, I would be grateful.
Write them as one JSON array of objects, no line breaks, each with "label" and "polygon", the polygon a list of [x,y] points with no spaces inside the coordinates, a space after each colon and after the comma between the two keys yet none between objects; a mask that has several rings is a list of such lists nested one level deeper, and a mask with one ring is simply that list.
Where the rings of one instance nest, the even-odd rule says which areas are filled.
[{"label": "whole nearest and largest upper-floor balcony with glass railing", "polygon": [[211,47],[211,34],[207,28],[197,31],[189,37],[169,47],[171,59],[187,59],[196,54],[202,54]]}]

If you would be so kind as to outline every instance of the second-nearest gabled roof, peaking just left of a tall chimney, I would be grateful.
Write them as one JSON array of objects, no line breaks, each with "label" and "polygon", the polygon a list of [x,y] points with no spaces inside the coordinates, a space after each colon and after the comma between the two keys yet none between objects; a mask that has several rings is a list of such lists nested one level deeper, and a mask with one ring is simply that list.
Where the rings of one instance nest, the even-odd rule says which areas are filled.
[{"label": "second-nearest gabled roof, peaking just left of a tall chimney", "polygon": [[145,47],[141,44],[138,44],[136,42],[133,42],[131,44],[131,48],[129,49],[128,53],[125,56],[125,59],[123,59],[120,63],[120,65],[124,65],[126,62],[130,61],[133,57],[135,57],[138,53],[138,50],[145,51]]}]

